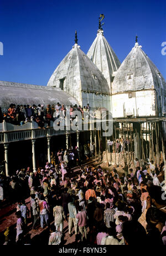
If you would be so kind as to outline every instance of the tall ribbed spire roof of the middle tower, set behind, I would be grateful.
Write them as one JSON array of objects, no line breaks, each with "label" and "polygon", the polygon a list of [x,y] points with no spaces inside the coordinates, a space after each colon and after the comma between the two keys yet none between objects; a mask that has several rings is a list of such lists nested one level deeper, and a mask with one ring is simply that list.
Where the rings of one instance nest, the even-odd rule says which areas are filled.
[{"label": "tall ribbed spire roof of the middle tower, set behind", "polygon": [[112,76],[115,76],[114,72],[118,70],[121,63],[106,38],[103,36],[102,29],[98,29],[97,37],[87,52],[87,56],[102,72],[108,82],[108,86],[111,88]]}]

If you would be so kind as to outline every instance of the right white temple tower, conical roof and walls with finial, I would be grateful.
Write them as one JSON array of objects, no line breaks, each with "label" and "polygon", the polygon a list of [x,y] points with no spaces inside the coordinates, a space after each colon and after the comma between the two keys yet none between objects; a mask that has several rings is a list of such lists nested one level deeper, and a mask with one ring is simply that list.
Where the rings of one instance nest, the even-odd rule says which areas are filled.
[{"label": "right white temple tower, conical roof and walls with finial", "polygon": [[165,96],[165,80],[136,37],[112,83],[113,117],[163,116]]}]

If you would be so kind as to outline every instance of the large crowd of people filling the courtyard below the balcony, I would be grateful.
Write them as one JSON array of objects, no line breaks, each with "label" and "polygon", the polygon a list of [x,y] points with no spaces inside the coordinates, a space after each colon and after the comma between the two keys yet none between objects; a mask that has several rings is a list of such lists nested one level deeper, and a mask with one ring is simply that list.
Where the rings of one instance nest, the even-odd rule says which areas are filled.
[{"label": "large crowd of people filling the courtyard below the balcony", "polygon": [[[64,223],[69,236],[74,235],[80,244],[166,244],[163,164],[156,166],[151,161],[140,167],[136,159],[135,169],[126,168],[119,174],[116,168],[94,165],[73,172],[65,157],[58,157],[58,164],[52,159],[35,173],[28,168],[10,178],[1,175],[3,200],[17,202],[17,234],[13,242],[7,228],[4,244],[31,244],[30,238],[27,242],[29,227],[42,231],[46,226],[48,244],[63,244]],[[30,211],[25,204],[29,196]]]}]

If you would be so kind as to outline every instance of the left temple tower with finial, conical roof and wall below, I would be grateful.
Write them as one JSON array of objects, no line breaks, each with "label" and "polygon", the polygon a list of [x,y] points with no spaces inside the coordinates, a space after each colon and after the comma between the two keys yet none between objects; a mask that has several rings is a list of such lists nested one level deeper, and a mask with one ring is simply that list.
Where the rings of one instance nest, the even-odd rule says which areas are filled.
[{"label": "left temple tower with finial, conical roof and wall below", "polygon": [[61,88],[79,101],[91,107],[105,106],[110,110],[110,90],[105,77],[96,65],[80,50],[75,33],[75,45],[54,71],[48,86]]}]

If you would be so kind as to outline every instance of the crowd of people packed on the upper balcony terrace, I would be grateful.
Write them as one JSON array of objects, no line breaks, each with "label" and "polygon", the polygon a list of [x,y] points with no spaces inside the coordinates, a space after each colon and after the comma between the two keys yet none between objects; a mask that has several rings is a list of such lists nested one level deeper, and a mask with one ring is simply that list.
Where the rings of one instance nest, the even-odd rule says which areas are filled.
[{"label": "crowd of people packed on the upper balcony terrace", "polygon": [[[60,114],[65,118],[66,116],[66,106],[61,105],[59,102],[56,105],[15,105],[11,104],[8,110],[3,110],[0,107],[0,122],[5,120],[6,122],[10,122],[14,125],[23,125],[28,121],[34,120],[38,123],[39,127],[44,128],[45,123],[47,127],[50,126],[50,121],[55,121],[58,119]],[[72,115],[73,111],[80,111],[82,115],[82,119],[84,119],[85,112],[90,111],[90,106],[82,108],[77,105],[70,105],[70,115]]]}]

